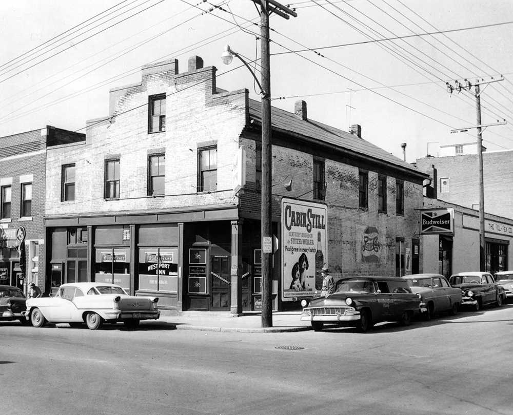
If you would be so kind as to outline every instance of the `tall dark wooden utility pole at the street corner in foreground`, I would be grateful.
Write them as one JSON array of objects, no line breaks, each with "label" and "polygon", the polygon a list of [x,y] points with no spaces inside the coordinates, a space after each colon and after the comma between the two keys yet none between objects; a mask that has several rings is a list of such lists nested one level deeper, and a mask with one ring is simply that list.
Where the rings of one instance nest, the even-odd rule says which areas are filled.
[{"label": "tall dark wooden utility pole at the street corner in foreground", "polygon": [[272,148],[271,67],[269,15],[288,19],[297,13],[275,0],[251,0],[260,4],[260,49],[262,65],[262,327],[272,327]]}]

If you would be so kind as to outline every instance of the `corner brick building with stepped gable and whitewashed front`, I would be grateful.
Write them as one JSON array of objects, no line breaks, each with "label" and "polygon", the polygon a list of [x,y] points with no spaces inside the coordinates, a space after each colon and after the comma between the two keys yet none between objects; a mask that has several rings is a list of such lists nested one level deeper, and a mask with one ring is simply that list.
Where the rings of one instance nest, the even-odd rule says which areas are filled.
[{"label": "corner brick building with stepped gable and whitewashed front", "polygon": [[[199,57],[178,69],[175,59],[143,67],[139,84],[110,91],[109,115],[87,122],[85,142],[48,151],[48,288],[107,281],[178,312],[259,308],[260,102],[218,89],[215,67]],[[353,132],[308,119],[303,101],[272,108],[273,309],[313,289],[285,295],[284,197],[327,212],[320,250],[336,279],[418,271],[416,209],[428,176]],[[242,191],[233,180],[241,166]],[[311,276],[318,235],[299,234],[313,245]]]}]

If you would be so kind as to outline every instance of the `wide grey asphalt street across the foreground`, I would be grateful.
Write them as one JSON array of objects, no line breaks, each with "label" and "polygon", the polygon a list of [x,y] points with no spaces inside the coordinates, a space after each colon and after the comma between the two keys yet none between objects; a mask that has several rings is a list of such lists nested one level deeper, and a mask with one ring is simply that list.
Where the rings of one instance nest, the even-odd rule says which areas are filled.
[{"label": "wide grey asphalt street across the foreground", "polygon": [[370,333],[0,323],[6,415],[513,414],[513,305]]}]

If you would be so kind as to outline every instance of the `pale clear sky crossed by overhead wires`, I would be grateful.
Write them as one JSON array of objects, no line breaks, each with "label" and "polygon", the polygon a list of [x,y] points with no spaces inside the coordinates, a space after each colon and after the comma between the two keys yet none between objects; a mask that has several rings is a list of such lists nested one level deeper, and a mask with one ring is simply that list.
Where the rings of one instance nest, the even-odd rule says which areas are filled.
[{"label": "pale clear sky crossed by overhead wires", "polygon": [[[309,119],[360,124],[365,140],[415,162],[477,141],[478,82],[481,124],[506,122],[484,129],[483,146],[513,149],[511,0],[281,3],[297,17],[270,18],[271,105],[293,112],[304,100]],[[251,72],[221,61],[229,44],[260,79],[259,23],[251,0],[2,0],[0,137],[47,125],[85,133],[108,115],[109,89],[171,58],[186,72],[200,56],[218,88],[260,100]],[[446,82],[464,79],[470,88],[449,93]]]}]

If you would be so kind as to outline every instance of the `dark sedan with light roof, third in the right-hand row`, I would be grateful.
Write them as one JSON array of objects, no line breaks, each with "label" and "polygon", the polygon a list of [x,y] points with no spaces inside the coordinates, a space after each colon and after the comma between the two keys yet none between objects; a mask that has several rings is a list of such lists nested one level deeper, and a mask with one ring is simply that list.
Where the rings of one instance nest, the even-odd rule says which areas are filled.
[{"label": "dark sedan with light roof, third in the right-hand row", "polygon": [[490,273],[463,272],[452,274],[449,284],[461,288],[462,305],[471,305],[476,311],[484,305],[497,304],[506,299],[504,288],[495,282]]}]

